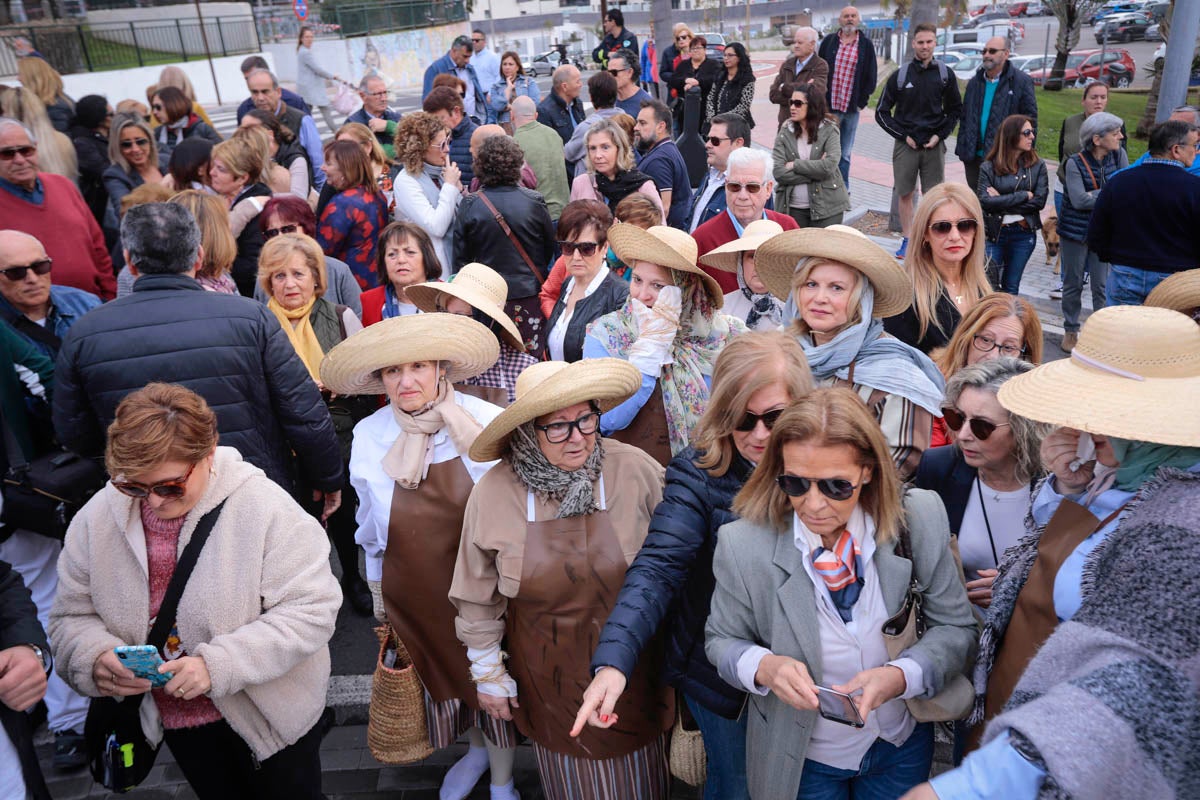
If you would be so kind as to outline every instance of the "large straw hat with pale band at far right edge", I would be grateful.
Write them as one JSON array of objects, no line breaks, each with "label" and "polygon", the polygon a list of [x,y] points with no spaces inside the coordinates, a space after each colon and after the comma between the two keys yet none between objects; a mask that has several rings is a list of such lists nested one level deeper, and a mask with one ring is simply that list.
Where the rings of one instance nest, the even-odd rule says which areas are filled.
[{"label": "large straw hat with pale band at far right edge", "polygon": [[1013,414],[1105,437],[1200,446],[1200,325],[1174,311],[1102,308],[1069,359],[1004,381]]}]

